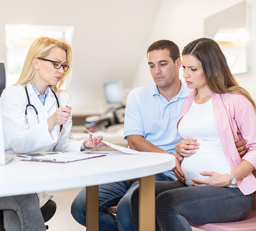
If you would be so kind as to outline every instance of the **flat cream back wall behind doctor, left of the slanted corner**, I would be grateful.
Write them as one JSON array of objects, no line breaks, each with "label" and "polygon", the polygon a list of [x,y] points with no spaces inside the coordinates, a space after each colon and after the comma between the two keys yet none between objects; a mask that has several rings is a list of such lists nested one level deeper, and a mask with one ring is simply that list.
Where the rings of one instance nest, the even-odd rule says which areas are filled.
[{"label": "flat cream back wall behind doctor, left of the slanted corner", "polygon": [[0,0],[0,62],[6,62],[5,24],[72,25],[74,114],[94,111],[103,82],[130,87],[161,0]]}]

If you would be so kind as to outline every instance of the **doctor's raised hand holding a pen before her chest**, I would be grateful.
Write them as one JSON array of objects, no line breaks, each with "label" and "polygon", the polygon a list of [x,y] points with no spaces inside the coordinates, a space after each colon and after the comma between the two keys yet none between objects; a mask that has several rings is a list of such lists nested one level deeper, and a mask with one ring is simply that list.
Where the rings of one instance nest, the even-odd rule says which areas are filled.
[{"label": "doctor's raised hand holding a pen before her chest", "polygon": [[47,118],[49,132],[52,131],[55,125],[67,123],[69,117],[71,117],[71,107],[59,107],[55,113]]}]

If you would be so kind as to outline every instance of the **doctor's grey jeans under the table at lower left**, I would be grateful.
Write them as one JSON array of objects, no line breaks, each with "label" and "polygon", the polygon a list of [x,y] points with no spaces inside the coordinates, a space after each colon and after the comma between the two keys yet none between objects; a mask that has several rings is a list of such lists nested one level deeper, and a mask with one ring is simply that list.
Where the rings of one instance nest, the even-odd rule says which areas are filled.
[{"label": "doctor's grey jeans under the table at lower left", "polygon": [[45,231],[36,194],[0,197],[6,231]]}]

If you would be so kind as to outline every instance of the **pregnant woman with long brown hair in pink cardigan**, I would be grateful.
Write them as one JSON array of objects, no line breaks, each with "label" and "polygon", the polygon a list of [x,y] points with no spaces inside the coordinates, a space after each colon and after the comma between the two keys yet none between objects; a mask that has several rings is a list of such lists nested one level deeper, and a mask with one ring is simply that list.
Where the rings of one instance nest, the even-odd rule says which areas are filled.
[{"label": "pregnant woman with long brown hair in pink cardigan", "polygon": [[[200,144],[184,157],[185,181],[156,182],[156,230],[191,231],[195,223],[244,219],[252,205],[256,179],[256,113],[249,93],[236,82],[214,40],[200,38],[182,52],[189,88],[177,124],[182,139]],[[235,142],[241,132],[248,152],[241,158]],[[138,190],[131,201],[138,230]]]}]

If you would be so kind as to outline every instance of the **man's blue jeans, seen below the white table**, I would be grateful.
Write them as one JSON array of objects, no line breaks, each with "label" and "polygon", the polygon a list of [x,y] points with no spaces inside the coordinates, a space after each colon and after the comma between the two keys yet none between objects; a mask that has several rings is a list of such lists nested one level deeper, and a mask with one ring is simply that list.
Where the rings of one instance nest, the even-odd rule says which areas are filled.
[{"label": "man's blue jeans, seen below the white table", "polygon": [[[171,181],[171,177],[159,173],[156,181]],[[130,198],[139,186],[138,181],[122,181],[99,185],[99,230],[100,231],[133,231]],[[86,190],[83,188],[75,197],[71,214],[81,225],[86,226]],[[116,216],[105,213],[110,206],[117,205]]]}]

